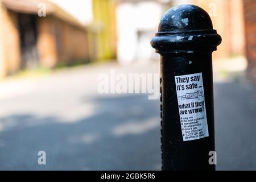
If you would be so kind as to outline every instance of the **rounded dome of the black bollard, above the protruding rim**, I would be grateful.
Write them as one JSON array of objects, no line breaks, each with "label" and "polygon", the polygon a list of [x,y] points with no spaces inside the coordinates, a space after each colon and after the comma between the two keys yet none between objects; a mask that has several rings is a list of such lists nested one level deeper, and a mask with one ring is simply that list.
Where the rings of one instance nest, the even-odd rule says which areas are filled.
[{"label": "rounded dome of the black bollard, above the protruding rim", "polygon": [[195,5],[174,6],[163,14],[158,32],[212,30],[207,12]]}]

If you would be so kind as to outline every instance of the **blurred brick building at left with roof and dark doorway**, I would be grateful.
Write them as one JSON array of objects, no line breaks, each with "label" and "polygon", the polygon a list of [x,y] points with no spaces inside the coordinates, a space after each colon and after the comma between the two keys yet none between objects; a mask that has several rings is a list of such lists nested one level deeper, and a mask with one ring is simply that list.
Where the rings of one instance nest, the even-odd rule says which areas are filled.
[{"label": "blurred brick building at left with roof and dark doorway", "polygon": [[88,60],[87,28],[64,10],[45,0],[0,0],[0,77]]}]

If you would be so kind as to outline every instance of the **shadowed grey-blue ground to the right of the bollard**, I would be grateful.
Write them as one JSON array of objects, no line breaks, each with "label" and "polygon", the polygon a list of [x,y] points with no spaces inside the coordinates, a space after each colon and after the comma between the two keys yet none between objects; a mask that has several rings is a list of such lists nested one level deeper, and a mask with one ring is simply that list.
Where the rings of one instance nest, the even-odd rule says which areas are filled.
[{"label": "shadowed grey-blue ground to the right of the bollard", "polygon": [[242,81],[214,86],[217,169],[256,170],[256,89]]}]

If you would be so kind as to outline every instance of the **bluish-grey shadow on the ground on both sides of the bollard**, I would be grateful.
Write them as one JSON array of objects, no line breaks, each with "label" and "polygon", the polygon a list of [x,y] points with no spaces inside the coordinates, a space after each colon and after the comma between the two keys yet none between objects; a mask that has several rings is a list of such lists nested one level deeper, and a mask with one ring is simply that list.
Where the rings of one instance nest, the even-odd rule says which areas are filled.
[{"label": "bluish-grey shadow on the ground on both sides of the bollard", "polygon": [[[256,169],[255,88],[222,82],[214,94],[217,169]],[[0,169],[160,169],[158,100],[138,94],[81,101],[93,101],[96,111],[72,123],[31,114],[0,118],[7,126],[0,131]],[[37,163],[41,150],[46,166]]]}]

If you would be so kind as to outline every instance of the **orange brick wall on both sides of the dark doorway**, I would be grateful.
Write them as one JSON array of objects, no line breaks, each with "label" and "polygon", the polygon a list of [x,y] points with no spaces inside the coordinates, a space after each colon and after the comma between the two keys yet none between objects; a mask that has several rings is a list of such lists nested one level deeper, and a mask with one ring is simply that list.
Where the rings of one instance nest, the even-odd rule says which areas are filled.
[{"label": "orange brick wall on both sides of the dark doorway", "polygon": [[[19,71],[21,66],[18,16],[0,1],[0,78]],[[53,68],[90,59],[87,31],[80,24],[48,15],[36,18],[36,31],[41,66]]]}]

